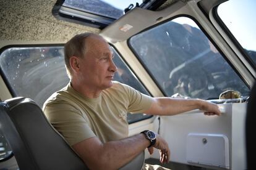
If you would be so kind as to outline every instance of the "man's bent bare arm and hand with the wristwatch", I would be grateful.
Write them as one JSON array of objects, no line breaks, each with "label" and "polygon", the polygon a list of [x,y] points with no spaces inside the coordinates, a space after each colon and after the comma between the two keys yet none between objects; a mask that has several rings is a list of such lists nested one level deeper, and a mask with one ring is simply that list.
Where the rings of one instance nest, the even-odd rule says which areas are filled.
[{"label": "man's bent bare arm and hand with the wristwatch", "polygon": [[[129,163],[150,145],[144,134],[137,134],[122,140],[103,144],[98,137],[92,137],[72,145],[89,169],[119,169]],[[153,146],[161,152],[161,163],[167,163],[170,151],[167,142],[160,136],[156,137]],[[150,152],[153,153],[151,147]]]}]

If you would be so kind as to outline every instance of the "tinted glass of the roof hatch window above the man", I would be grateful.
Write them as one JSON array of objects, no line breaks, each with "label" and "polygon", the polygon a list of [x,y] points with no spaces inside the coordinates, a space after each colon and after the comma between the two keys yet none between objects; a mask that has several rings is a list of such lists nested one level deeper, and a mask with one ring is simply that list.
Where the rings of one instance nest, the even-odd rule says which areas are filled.
[{"label": "tinted glass of the roof hatch window above the man", "polygon": [[103,1],[88,1],[88,0],[66,0],[63,6],[71,7],[73,9],[82,10],[84,12],[93,13],[105,17],[117,19],[124,15],[124,9],[130,4],[142,3],[142,0],[135,1],[119,1],[119,0],[103,0]]}]

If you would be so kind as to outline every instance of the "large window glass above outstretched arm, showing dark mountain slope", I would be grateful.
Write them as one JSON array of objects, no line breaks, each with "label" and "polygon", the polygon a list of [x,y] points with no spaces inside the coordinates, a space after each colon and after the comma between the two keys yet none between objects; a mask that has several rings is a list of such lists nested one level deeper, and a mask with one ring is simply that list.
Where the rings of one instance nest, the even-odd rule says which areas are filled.
[{"label": "large window glass above outstretched arm, showing dark mountain slope", "polygon": [[249,95],[249,88],[190,18],[175,18],[129,43],[168,96],[218,99],[228,90]]}]

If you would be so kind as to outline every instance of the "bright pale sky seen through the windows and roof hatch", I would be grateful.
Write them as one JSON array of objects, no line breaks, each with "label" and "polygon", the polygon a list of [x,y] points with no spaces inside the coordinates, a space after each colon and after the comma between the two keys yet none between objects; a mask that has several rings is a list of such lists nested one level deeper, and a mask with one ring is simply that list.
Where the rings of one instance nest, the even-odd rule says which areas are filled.
[{"label": "bright pale sky seen through the windows and roof hatch", "polygon": [[[125,9],[129,4],[139,4],[143,0],[121,1],[121,0],[103,0],[109,4],[119,8]],[[229,0],[224,2],[218,7],[218,15],[221,20],[228,26],[229,30],[240,42],[242,47],[247,50],[256,51],[256,0]],[[180,18],[176,22],[184,24],[187,23],[191,26],[198,28],[192,21]]]}]

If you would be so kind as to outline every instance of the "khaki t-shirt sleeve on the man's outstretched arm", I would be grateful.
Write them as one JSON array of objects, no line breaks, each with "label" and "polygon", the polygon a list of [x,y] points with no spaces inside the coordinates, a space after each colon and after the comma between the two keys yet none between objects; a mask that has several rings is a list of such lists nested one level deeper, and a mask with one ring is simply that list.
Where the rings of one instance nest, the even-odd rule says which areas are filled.
[{"label": "khaki t-shirt sleeve on the man's outstretched arm", "polygon": [[150,108],[151,103],[153,102],[153,98],[151,96],[142,94],[126,84],[122,84],[122,86],[129,97],[129,106],[127,111],[130,113],[143,113],[143,111]]}]

